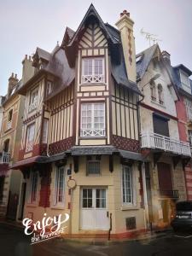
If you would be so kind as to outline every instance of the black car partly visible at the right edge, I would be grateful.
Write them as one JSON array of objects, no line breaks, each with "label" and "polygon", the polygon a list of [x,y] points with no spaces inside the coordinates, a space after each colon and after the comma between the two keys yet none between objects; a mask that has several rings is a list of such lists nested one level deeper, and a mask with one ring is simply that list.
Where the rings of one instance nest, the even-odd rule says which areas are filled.
[{"label": "black car partly visible at the right edge", "polygon": [[192,201],[179,201],[176,204],[176,216],[172,220],[173,230],[192,230]]}]

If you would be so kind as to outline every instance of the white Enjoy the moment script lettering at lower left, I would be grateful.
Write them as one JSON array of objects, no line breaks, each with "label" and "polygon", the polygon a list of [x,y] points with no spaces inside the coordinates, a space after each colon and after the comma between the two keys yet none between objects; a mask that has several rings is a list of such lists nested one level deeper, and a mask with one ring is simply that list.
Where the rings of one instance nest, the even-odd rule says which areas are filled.
[{"label": "white Enjoy the moment script lettering at lower left", "polygon": [[44,213],[44,218],[36,223],[33,223],[31,218],[23,219],[22,224],[25,226],[26,236],[32,235],[31,244],[61,236],[61,233],[67,229],[67,225],[64,224],[69,219],[69,214],[65,213],[63,217],[61,214],[54,217],[46,216],[47,213]]}]

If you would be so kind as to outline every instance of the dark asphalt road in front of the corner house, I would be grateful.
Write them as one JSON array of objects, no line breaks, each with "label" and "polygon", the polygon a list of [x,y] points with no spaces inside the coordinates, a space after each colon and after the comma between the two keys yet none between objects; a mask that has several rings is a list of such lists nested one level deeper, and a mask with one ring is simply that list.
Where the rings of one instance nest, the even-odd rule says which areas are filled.
[{"label": "dark asphalt road in front of the corner house", "polygon": [[192,232],[168,232],[142,241],[121,241],[103,245],[65,241],[58,238],[30,245],[20,230],[0,225],[1,256],[187,256],[192,255]]}]

